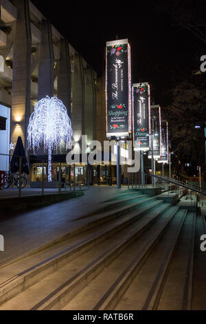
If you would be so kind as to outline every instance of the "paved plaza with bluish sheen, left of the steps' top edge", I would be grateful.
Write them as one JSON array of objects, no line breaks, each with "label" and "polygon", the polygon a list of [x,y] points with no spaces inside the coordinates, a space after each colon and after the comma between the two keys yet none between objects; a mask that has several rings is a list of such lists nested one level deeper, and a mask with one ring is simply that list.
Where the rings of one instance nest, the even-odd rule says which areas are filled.
[{"label": "paved plaza with bluish sheen, left of the steps' top edge", "polygon": [[[84,196],[23,212],[18,216],[9,216],[8,220],[0,221],[0,234],[5,239],[5,251],[0,254],[0,263],[73,230],[85,222],[85,219],[76,219],[98,210],[103,201],[110,199],[119,190],[125,188],[90,187],[84,191]],[[10,192],[12,190],[8,191]],[[23,192],[31,195],[31,190],[26,188]],[[51,193],[51,190],[47,192]],[[36,190],[32,189],[32,194],[35,193]]]}]

